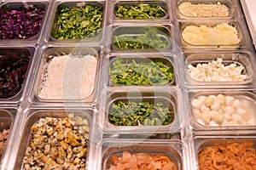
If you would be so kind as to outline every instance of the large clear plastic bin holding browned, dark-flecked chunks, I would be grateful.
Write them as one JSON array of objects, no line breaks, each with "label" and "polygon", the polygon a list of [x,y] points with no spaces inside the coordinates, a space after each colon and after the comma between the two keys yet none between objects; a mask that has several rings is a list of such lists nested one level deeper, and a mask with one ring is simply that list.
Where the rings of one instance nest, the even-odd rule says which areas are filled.
[{"label": "large clear plastic bin holding browned, dark-flecked chunks", "polygon": [[[26,115],[26,118],[23,120],[24,122],[20,125],[20,128],[21,128],[20,139],[17,139],[17,141],[16,141],[18,145],[17,145],[16,150],[13,150],[12,154],[15,154],[15,155],[11,156],[11,160],[10,160],[11,162],[9,162],[9,169],[11,169],[11,168],[14,168],[14,169],[24,168],[23,158],[24,158],[25,153],[26,153],[26,148],[28,147],[28,145],[30,144],[30,141],[32,139],[32,133],[31,133],[32,130],[31,129],[32,129],[34,123],[38,122],[41,118],[46,118],[46,117],[64,118],[64,117],[67,117],[69,114],[73,114],[74,116],[79,116],[83,120],[84,119],[87,120],[87,122],[89,123],[89,137],[86,137],[86,138],[88,138],[86,158],[83,158],[84,157],[83,156],[80,159],[85,159],[84,161],[86,163],[86,167],[90,167],[90,163],[92,161],[92,159],[91,159],[92,153],[90,153],[90,152],[91,152],[91,150],[94,150],[94,138],[93,138],[93,136],[96,133],[94,131],[95,130],[95,127],[94,127],[95,122],[94,122],[93,116],[94,116],[94,114],[96,114],[96,112],[94,110],[89,109],[89,108],[88,109],[76,109],[76,108],[67,109],[66,108],[66,111],[65,111],[61,108],[60,109],[56,109],[56,108],[46,109],[45,108],[45,109],[30,109],[30,110],[25,111],[24,114]],[[54,124],[56,122],[53,120],[52,123]],[[78,130],[80,129],[79,124],[77,124],[77,122],[74,124],[74,126],[78,126]],[[66,129],[67,128],[69,128],[69,127],[66,127]],[[43,135],[43,137],[46,136],[47,140],[50,139],[49,135],[52,136],[52,135],[55,134],[55,133],[50,134],[50,133],[48,133],[48,131],[49,131],[49,129],[47,129],[47,131],[46,131],[47,133]],[[80,131],[78,131],[78,133],[83,134],[83,136],[86,135],[84,133],[81,133]],[[63,134],[65,136],[65,133],[63,133]],[[65,137],[65,141],[67,141],[66,138],[67,137]],[[61,140],[57,139],[57,142],[61,142]],[[43,143],[41,142],[40,144],[44,144],[44,142]],[[72,143],[67,143],[67,144],[72,144]],[[82,144],[82,143],[79,142],[79,145],[80,144]],[[32,145],[31,145],[31,147],[32,147]],[[40,150],[38,148],[38,146],[36,148],[37,148],[37,150]],[[84,149],[84,147],[83,147],[83,149]],[[50,150],[53,150],[53,148],[51,147]],[[59,153],[61,153],[61,152],[59,152]],[[67,157],[65,156],[64,160],[66,160],[66,159],[67,159]],[[34,161],[36,163],[36,159]],[[37,163],[37,165],[38,165],[38,163]],[[49,166],[54,166],[54,165],[49,165]]]}]

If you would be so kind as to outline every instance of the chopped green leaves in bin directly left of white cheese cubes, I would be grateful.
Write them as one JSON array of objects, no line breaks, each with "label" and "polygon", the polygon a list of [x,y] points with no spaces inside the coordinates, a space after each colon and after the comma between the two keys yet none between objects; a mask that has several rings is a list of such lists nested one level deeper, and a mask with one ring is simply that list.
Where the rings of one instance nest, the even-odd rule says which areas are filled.
[{"label": "chopped green leaves in bin directly left of white cheese cubes", "polygon": [[110,68],[110,79],[116,85],[165,85],[172,82],[172,67],[166,67],[160,60],[137,63],[134,59],[128,64],[115,59]]}]

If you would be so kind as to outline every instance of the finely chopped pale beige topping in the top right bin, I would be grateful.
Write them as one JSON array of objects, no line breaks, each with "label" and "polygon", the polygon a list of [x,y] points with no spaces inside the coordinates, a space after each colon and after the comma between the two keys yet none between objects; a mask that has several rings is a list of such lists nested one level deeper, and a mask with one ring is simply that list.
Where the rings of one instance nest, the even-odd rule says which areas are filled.
[{"label": "finely chopped pale beige topping in the top right bin", "polygon": [[230,9],[219,2],[215,4],[184,2],[178,6],[178,10],[181,14],[190,17],[227,17],[230,15]]}]

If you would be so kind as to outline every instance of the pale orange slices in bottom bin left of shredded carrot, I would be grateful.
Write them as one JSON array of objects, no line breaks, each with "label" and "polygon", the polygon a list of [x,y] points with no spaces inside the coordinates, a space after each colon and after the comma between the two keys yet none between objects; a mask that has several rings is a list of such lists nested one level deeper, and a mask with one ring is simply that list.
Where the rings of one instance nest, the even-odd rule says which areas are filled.
[{"label": "pale orange slices in bottom bin left of shredded carrot", "polygon": [[147,153],[131,154],[124,151],[122,156],[112,156],[109,170],[177,170],[175,164],[161,154],[150,156]]}]

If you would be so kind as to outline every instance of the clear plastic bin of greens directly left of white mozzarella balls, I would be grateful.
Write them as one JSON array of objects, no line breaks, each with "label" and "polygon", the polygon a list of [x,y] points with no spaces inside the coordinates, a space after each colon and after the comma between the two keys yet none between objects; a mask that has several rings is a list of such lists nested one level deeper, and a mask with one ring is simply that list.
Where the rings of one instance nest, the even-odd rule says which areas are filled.
[{"label": "clear plastic bin of greens directly left of white mozzarella balls", "polygon": [[[180,107],[182,98],[179,88],[104,88],[101,96],[102,98],[98,106],[99,115],[97,116],[97,122],[104,133],[177,133],[180,131],[184,119],[186,118]],[[168,108],[168,111],[170,111],[168,114],[171,114],[171,118],[166,119],[164,118],[166,116],[154,116],[154,110],[148,110],[148,112],[154,116],[154,119],[158,119],[154,121],[160,121],[161,125],[158,125],[159,123],[157,122],[152,124],[153,117],[147,116],[147,114],[144,115],[143,112],[141,113],[143,114],[142,116],[145,116],[144,118],[148,120],[142,119],[142,122],[134,122],[132,118],[130,120],[127,117],[124,123],[116,124],[119,121],[113,122],[113,120],[116,119],[114,118],[115,115],[109,115],[113,105],[118,106],[119,103],[127,103],[127,105],[129,105],[130,102],[134,102],[137,105],[143,105],[143,103],[148,102],[148,105],[155,107],[156,111],[160,110],[160,108],[163,109],[162,111],[164,111],[164,108]],[[161,103],[162,106],[160,106],[159,103]],[[116,108],[116,106],[114,108]],[[115,109],[113,109],[113,112],[114,111]],[[137,110],[131,111],[131,115],[136,113],[136,111]],[[110,121],[110,118],[112,121]],[[131,122],[131,124],[129,122]],[[143,123],[145,126],[143,126]]]}]

